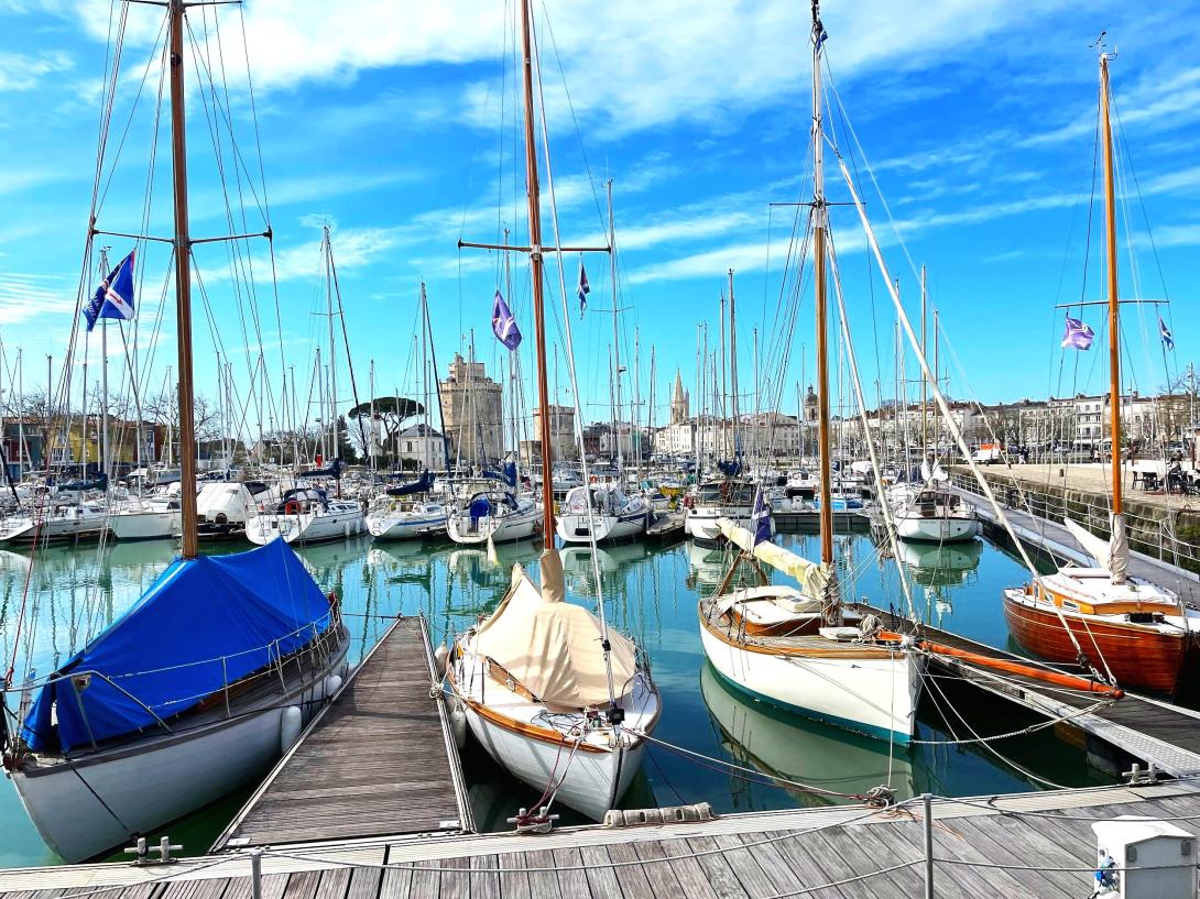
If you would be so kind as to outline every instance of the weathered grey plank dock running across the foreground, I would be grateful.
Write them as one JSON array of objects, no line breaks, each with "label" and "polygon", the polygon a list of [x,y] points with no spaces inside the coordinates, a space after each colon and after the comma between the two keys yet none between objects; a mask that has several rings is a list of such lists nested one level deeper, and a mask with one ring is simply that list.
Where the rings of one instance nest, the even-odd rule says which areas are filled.
[{"label": "weathered grey plank dock running across the foreground", "polygon": [[[1200,784],[1054,790],[971,800],[737,814],[628,828],[570,827],[238,852],[168,867],[0,871],[0,899],[1078,899],[1093,886],[1091,823],[1169,819],[1200,833]],[[928,823],[928,826],[926,826]],[[1181,861],[1190,865],[1194,858]],[[930,893],[926,893],[926,877]]]}]

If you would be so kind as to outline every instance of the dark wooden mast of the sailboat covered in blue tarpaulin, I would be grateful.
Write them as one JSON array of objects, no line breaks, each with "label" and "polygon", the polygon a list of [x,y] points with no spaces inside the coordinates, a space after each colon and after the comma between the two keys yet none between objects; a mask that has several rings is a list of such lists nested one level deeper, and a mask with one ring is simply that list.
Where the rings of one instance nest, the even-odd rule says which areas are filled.
[{"label": "dark wooden mast of the sailboat covered in blue tarpaulin", "polygon": [[169,0],[170,150],[175,192],[175,316],[179,327],[179,487],[182,557],[196,559],[196,414],[192,380],[192,239],[187,229],[187,140],[184,123],[184,0]]}]

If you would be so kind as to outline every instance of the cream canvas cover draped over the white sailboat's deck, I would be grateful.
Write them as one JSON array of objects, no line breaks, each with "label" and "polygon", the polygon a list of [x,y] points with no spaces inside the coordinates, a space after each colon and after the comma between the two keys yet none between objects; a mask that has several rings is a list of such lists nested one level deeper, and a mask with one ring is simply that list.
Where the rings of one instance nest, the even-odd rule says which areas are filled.
[{"label": "cream canvas cover draped over the white sailboat's deck", "polygon": [[[563,562],[557,550],[541,557],[542,587],[520,565],[492,616],[468,648],[492,658],[551,706],[582,708],[608,702],[608,672],[600,647],[600,620],[564,602]],[[637,670],[634,644],[612,630],[612,680],[617,693]]]}]

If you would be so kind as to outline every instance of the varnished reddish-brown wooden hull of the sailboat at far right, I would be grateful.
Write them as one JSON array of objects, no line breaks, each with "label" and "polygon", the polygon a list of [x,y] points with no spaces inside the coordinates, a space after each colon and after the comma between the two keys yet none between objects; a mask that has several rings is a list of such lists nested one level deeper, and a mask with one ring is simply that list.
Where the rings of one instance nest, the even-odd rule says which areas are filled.
[{"label": "varnished reddish-brown wooden hull of the sailboat at far right", "polygon": [[[1120,625],[1066,615],[1079,645],[1100,672],[1104,662],[1122,687],[1174,693],[1183,670],[1188,638],[1164,634],[1136,625]],[[1062,621],[1050,609],[1030,607],[1004,596],[1008,632],[1021,646],[1049,662],[1074,663],[1075,647]],[[1097,652],[1099,650],[1099,653]]]}]

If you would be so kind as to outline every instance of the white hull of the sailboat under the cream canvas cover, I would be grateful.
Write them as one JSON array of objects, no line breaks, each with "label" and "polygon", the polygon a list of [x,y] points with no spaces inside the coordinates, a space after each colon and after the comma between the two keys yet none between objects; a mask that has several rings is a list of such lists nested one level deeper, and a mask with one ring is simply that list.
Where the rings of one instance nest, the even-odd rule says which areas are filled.
[{"label": "white hull of the sailboat under the cream canvas cover", "polygon": [[[470,705],[464,705],[467,722],[475,740],[514,777],[539,794],[551,777],[562,777],[569,748],[515,734],[484,718]],[[602,821],[605,813],[616,808],[625,795],[642,765],[644,752],[643,740],[635,741],[629,748],[622,747],[612,752],[576,752],[566,767],[566,777],[558,789],[556,802],[569,806],[593,821]]]}]

